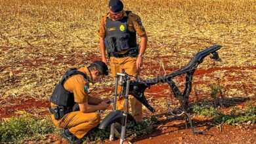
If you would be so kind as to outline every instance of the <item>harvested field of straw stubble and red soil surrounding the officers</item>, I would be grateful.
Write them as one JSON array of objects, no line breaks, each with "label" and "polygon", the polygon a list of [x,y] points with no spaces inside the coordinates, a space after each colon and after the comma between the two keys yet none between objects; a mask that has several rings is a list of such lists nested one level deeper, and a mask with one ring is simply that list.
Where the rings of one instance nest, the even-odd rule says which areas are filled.
[{"label": "harvested field of straw stubble and red soil surrounding the officers", "polygon": [[[141,78],[171,73],[186,65],[200,50],[219,44],[223,45],[218,51],[223,61],[205,58],[199,65],[190,103],[207,105],[205,100],[213,100],[211,86],[221,86],[225,107],[219,110],[223,113],[234,108],[243,110],[247,101],[256,105],[256,1],[127,0],[123,3],[125,9],[140,16],[148,35]],[[0,0],[1,120],[24,113],[49,117],[49,98],[61,75],[69,68],[101,60],[96,33],[107,4],[107,0]],[[177,77],[175,82],[184,87],[184,77]],[[91,94],[111,96],[113,92],[110,75],[96,84]],[[167,127],[135,137],[131,142],[256,143],[255,124],[242,128],[224,124],[219,132],[217,126],[209,125],[212,118],[195,116],[196,127],[208,131],[206,135],[194,136],[190,129],[184,128],[182,120],[164,118],[167,102],[173,107],[179,105],[167,84],[152,86],[146,90],[146,98],[157,112],[152,114],[144,107],[143,115],[156,115]],[[41,143],[64,142],[55,134],[47,137]]]}]

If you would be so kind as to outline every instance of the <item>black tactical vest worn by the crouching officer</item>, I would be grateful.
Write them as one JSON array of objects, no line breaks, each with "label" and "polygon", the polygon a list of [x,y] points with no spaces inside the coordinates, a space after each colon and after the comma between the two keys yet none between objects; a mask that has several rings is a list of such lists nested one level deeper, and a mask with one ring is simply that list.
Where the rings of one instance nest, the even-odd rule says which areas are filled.
[{"label": "black tactical vest worn by the crouching officer", "polygon": [[51,102],[59,106],[73,107],[75,105],[74,93],[69,92],[64,88],[64,82],[66,82],[72,75],[83,75],[88,80],[87,75],[77,69],[70,69],[66,71],[60,82],[55,86],[53,94],[51,96]]}]

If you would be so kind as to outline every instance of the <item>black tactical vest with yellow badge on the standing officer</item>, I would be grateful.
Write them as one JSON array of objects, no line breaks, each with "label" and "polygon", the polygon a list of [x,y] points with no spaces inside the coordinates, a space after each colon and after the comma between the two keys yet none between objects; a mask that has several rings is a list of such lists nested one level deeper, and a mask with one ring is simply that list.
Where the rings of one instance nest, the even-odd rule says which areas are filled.
[{"label": "black tactical vest with yellow badge on the standing officer", "polygon": [[106,37],[104,44],[108,53],[122,52],[129,48],[136,48],[136,32],[131,32],[127,28],[128,15],[131,11],[125,11],[127,16],[121,20],[113,21],[106,18]]}]

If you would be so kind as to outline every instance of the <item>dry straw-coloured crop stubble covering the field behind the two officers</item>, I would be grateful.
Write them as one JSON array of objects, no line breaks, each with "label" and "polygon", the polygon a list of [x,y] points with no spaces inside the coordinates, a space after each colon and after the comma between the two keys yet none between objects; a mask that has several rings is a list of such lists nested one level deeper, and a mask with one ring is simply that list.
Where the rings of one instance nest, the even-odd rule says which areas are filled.
[{"label": "dry straw-coloured crop stubble covering the field behind the two officers", "polygon": [[[96,31],[108,1],[0,0],[0,98],[35,96],[49,98],[53,85],[70,67],[83,67],[100,60]],[[255,67],[256,1],[253,0],[172,0],[124,1],[125,9],[142,18],[148,32],[145,62],[158,65],[156,56],[174,56],[164,62],[168,67],[185,65],[198,51],[215,43],[222,63],[215,67]],[[150,54],[150,56],[149,56]],[[205,60],[203,69],[213,67]],[[149,75],[144,69],[142,75]],[[156,72],[158,73],[158,72]],[[203,94],[217,81],[226,96],[252,96],[256,92],[255,69],[242,74],[215,71],[203,76],[197,85]],[[152,75],[154,76],[154,75]],[[208,75],[209,76],[209,75]],[[217,80],[221,77],[221,80]],[[230,79],[240,78],[240,81]],[[104,82],[109,84],[112,79]],[[252,88],[245,92],[242,84]],[[112,86],[113,87],[113,86]]]}]

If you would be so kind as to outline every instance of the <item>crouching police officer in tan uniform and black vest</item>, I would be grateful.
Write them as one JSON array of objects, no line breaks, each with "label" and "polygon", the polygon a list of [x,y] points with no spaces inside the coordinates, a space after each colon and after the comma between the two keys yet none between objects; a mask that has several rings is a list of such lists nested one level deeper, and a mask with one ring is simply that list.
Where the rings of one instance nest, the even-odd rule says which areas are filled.
[{"label": "crouching police officer in tan uniform and black vest", "polygon": [[56,85],[51,96],[53,123],[64,128],[61,134],[70,143],[82,143],[89,130],[100,122],[98,110],[106,109],[109,99],[89,96],[89,82],[95,83],[108,75],[104,62],[96,61],[89,67],[68,70]]}]

